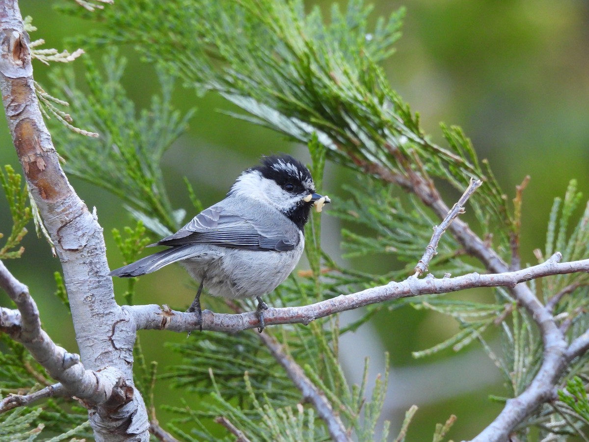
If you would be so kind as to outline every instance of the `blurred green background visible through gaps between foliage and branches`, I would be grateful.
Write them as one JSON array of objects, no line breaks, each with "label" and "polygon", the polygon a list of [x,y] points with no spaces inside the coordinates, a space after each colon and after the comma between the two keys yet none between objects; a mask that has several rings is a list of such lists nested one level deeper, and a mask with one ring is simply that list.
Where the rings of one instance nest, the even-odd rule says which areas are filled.
[{"label": "blurred green background visible through gaps between foliage and branches", "polygon": [[[115,2],[118,0],[115,0]],[[21,0],[22,14],[32,15],[38,31],[32,39],[43,38],[45,47],[73,51],[64,38],[84,34],[96,24],[59,15],[54,2]],[[328,14],[331,1],[307,1],[318,4]],[[345,4],[345,2],[342,2]],[[532,250],[543,248],[548,212],[554,197],[562,196],[571,178],[579,189],[589,189],[589,5],[584,1],[467,1],[406,0],[377,1],[373,18],[406,7],[403,37],[398,52],[386,61],[391,84],[419,111],[426,133],[442,143],[439,122],[461,126],[471,137],[481,158],[488,158],[507,197],[529,174],[531,182],[524,193],[522,219],[522,262],[535,262]],[[125,87],[137,108],[145,107],[158,92],[153,67],[142,64],[133,48],[120,54],[128,58]],[[84,57],[97,58],[99,54]],[[51,67],[35,62],[35,79],[48,83]],[[81,63],[77,63],[81,72]],[[176,105],[187,110],[197,107],[190,130],[164,156],[164,173],[174,207],[190,207],[182,177],[187,176],[203,204],[221,199],[241,170],[252,166],[262,154],[287,151],[308,161],[305,147],[261,127],[235,120],[219,110],[235,110],[214,94],[198,98],[192,90],[176,88]],[[75,118],[75,114],[74,114]],[[0,164],[18,166],[8,131],[0,127]],[[54,140],[59,150],[59,140]],[[330,166],[324,192],[343,195],[340,184],[353,179],[349,171]],[[109,248],[111,268],[120,265],[112,236],[113,227],[131,223],[115,197],[104,190],[72,179],[78,194],[90,208],[96,207]],[[455,199],[449,194],[446,203]],[[334,201],[337,204],[337,200]],[[323,217],[324,244],[333,256],[339,256],[339,233],[335,219],[326,210]],[[31,226],[31,230],[33,227]],[[0,232],[9,230],[8,209],[0,199]],[[15,275],[29,285],[39,304],[45,329],[69,351],[76,343],[70,317],[53,295],[53,272],[59,271],[58,259],[44,240],[34,232],[25,238],[25,255],[8,262]],[[424,245],[425,246],[425,245]],[[367,260],[348,262],[375,268]],[[379,260],[378,268],[391,269],[395,262]],[[301,266],[304,268],[305,263]],[[434,273],[436,269],[431,269]],[[183,308],[193,293],[188,276],[175,266],[138,283],[137,302],[170,304]],[[118,293],[126,287],[115,281]],[[471,292],[461,296],[488,296]],[[122,297],[118,299],[122,302]],[[8,305],[0,294],[1,305]],[[206,301],[204,301],[206,302]],[[343,320],[353,318],[353,312]],[[429,440],[435,423],[450,414],[458,421],[449,437],[471,438],[501,409],[491,403],[489,394],[505,393],[498,371],[477,346],[458,354],[445,352],[435,358],[412,359],[411,352],[431,347],[448,338],[456,324],[434,313],[411,307],[379,314],[375,321],[355,334],[342,338],[342,362],[350,377],[359,380],[358,361],[371,358],[371,372],[382,370],[383,351],[391,352],[389,395],[385,418],[392,420],[396,434],[403,414],[411,404],[420,408],[408,440]],[[164,348],[166,341],[181,341],[184,334],[141,332],[146,357],[160,361],[160,373],[176,361],[176,355]],[[198,338],[198,337],[191,337]],[[491,342],[497,341],[489,335]],[[496,342],[495,342],[496,344]],[[358,349],[362,349],[360,353]],[[360,364],[361,365],[361,364]],[[170,392],[166,382],[158,385],[160,404],[176,404],[178,392]],[[160,412],[160,422],[167,414]]]}]

